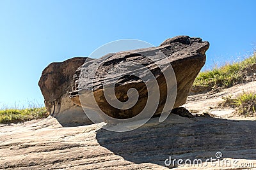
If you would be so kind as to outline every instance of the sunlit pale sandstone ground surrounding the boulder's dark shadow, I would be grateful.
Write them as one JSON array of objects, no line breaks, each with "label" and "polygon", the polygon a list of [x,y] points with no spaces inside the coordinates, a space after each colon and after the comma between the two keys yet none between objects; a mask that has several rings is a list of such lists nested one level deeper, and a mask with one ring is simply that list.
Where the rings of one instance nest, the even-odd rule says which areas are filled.
[{"label": "sunlit pale sandstone ground surrounding the boulder's dark shadow", "polygon": [[[0,169],[256,168],[255,118],[237,117],[234,110],[216,108],[221,97],[255,87],[253,81],[188,97],[184,105],[188,110],[208,112],[214,117],[170,115],[163,123],[156,117],[129,132],[106,131],[100,128],[104,124],[62,127],[52,117],[0,125]],[[223,165],[218,161],[206,165],[207,159],[216,159],[216,152],[222,153],[218,161]],[[203,162],[166,166],[164,161],[170,156]],[[238,162],[234,164],[234,160]]]}]

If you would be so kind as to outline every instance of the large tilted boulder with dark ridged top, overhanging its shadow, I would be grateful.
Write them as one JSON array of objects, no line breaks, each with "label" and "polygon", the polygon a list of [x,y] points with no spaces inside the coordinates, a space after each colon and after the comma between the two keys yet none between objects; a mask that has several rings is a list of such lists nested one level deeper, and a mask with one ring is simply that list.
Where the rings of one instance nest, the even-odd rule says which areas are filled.
[{"label": "large tilted boulder with dark ridged top, overhanging its shadow", "polygon": [[[102,64],[97,67],[97,74],[95,78],[95,83],[93,84],[93,94],[95,100],[104,113],[114,118],[131,118],[143,110],[145,104],[147,103],[147,93],[150,90],[145,88],[145,83],[142,80],[136,78],[135,76],[124,76],[120,78],[118,83],[115,86],[115,95],[120,101],[127,100],[127,90],[131,87],[138,90],[140,97],[138,102],[129,108],[128,110],[120,110],[111,106],[104,97],[104,92],[102,91],[102,82],[104,81],[105,85],[112,83],[113,78],[116,75],[105,76],[109,70],[115,68],[118,64],[128,61],[137,62],[143,64],[150,70],[159,85],[160,90],[160,101],[155,115],[161,113],[163,110],[164,104],[166,102],[166,79],[164,79],[163,73],[159,71],[160,69],[156,67],[156,64],[152,60],[148,59],[146,56],[159,59],[159,62],[165,62],[163,59],[159,58],[158,51],[164,53],[168,61],[172,64],[173,70],[175,72],[177,80],[177,97],[173,108],[177,108],[182,104],[186,103],[186,98],[188,97],[189,89],[191,88],[193,81],[195,80],[200,69],[204,66],[205,63],[205,52],[209,48],[209,43],[207,41],[202,41],[201,38],[190,38],[189,36],[177,36],[175,38],[166,39],[160,46],[153,48],[145,48],[139,50],[132,50],[129,52],[118,52],[111,53],[102,57]],[[92,61],[92,63],[95,60]],[[92,65],[92,64],[91,64]],[[90,62],[83,65],[83,67],[89,67]],[[80,68],[81,69],[81,68]],[[79,73],[80,69],[77,70]],[[143,75],[145,73],[142,73]],[[169,80],[168,80],[169,81]],[[80,82],[81,83],[81,82]],[[174,87],[168,87],[172,89]],[[76,83],[72,92],[70,92],[70,97],[74,103],[81,105],[79,99],[80,94],[77,92],[79,90],[78,82]],[[80,89],[88,89],[88,87],[80,87]],[[86,90],[84,94],[86,94]],[[79,94],[79,95],[78,95]],[[90,99],[83,102],[83,107],[90,108],[92,110],[97,110],[98,108],[93,107],[94,105],[90,103]]]}]

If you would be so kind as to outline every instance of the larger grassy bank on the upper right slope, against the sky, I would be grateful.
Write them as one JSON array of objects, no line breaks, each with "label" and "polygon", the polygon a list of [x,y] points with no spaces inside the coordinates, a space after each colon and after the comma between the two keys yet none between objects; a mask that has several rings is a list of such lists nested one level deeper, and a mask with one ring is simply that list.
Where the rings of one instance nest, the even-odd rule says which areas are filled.
[{"label": "larger grassy bank on the upper right slope, against the sky", "polygon": [[211,71],[200,72],[193,85],[211,89],[231,87],[243,82],[246,69],[254,64],[256,64],[256,53],[241,62],[225,64],[222,67],[216,66]]}]

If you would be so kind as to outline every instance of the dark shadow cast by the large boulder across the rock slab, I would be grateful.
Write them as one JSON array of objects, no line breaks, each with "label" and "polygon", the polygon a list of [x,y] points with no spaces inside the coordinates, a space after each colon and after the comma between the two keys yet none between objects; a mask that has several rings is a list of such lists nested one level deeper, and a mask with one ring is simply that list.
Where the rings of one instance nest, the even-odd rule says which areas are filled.
[{"label": "dark shadow cast by the large boulder across the rock slab", "polygon": [[164,160],[223,158],[256,159],[256,122],[212,117],[184,118],[171,114],[163,123],[152,118],[129,132],[97,131],[97,141],[125,160],[153,163]]}]

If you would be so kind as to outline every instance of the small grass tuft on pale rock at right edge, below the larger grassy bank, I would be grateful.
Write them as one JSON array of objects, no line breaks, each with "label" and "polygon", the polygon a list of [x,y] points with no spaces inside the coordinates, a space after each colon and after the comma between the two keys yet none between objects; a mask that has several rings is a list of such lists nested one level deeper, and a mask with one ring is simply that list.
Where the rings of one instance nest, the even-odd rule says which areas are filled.
[{"label": "small grass tuft on pale rock at right edge, below the larger grassy bank", "polygon": [[239,115],[253,117],[256,115],[256,94],[252,92],[243,92],[239,96],[232,98],[232,95],[223,97],[223,103],[220,106],[229,106],[236,108]]}]

